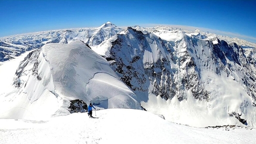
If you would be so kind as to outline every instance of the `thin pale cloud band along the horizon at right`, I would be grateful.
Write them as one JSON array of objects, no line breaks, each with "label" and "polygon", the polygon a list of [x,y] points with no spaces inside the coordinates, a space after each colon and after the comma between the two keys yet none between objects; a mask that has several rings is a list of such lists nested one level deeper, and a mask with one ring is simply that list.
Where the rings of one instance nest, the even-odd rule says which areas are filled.
[{"label": "thin pale cloud band along the horizon at right", "polygon": [[202,32],[210,32],[210,33],[214,33],[216,35],[238,37],[239,39],[245,39],[245,40],[248,40],[249,42],[256,43],[256,37],[241,35],[239,33],[232,33],[232,32],[225,32],[225,31],[221,31],[221,30],[208,29],[208,28],[205,28],[205,27],[193,27],[193,26],[170,25],[170,24],[144,24],[144,26],[145,27],[170,26],[170,27],[181,28],[181,29],[184,29],[184,30],[196,30],[196,29],[199,29]]}]

